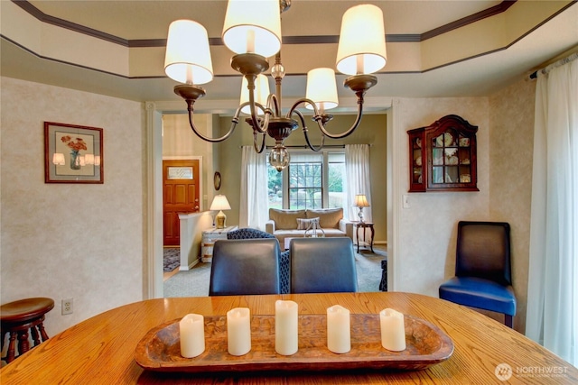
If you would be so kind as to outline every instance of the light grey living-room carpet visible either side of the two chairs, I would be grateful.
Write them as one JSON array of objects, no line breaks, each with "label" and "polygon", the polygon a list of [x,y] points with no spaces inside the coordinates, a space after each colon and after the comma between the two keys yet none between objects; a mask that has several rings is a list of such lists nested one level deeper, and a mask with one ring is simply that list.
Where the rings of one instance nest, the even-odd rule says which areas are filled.
[{"label": "light grey living-room carpet visible either side of the two chairs", "polygon": [[[375,252],[360,250],[355,254],[358,291],[379,291],[381,261],[387,251],[374,246]],[[191,270],[182,270],[164,281],[164,297],[206,297],[209,295],[210,263],[199,262]]]}]

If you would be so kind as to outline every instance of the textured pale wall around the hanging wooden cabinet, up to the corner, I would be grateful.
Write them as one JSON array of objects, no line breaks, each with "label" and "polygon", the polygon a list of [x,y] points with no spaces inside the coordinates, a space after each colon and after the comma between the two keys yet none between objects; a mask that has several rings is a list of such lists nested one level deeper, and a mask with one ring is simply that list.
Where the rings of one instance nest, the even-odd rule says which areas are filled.
[{"label": "textured pale wall around the hanging wooden cabinet, up to the corner", "polygon": [[[398,210],[396,250],[390,258],[398,272],[396,291],[433,297],[453,275],[456,229],[460,220],[489,219],[489,118],[487,98],[399,99],[394,104],[393,145],[397,148],[394,172],[399,186],[394,202],[408,196],[409,208]],[[444,115],[460,115],[478,126],[479,192],[407,193],[409,189],[407,131],[433,124]]]}]

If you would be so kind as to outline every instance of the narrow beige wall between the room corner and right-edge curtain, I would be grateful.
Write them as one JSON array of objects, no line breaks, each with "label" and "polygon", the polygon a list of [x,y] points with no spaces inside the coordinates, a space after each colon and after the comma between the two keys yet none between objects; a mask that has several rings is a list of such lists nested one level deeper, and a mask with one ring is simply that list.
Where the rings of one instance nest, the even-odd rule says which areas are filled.
[{"label": "narrow beige wall between the room corner and right-edge curtain", "polygon": [[526,329],[536,82],[520,80],[489,98],[489,215],[511,227],[516,329]]}]

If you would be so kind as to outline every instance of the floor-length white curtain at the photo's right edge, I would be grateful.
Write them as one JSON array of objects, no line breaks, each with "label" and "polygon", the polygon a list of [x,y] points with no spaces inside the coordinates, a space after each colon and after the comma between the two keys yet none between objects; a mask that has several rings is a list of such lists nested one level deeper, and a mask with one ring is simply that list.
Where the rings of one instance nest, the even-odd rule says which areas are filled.
[{"label": "floor-length white curtain at the photo's right edge", "polygon": [[578,54],[538,73],[526,334],[578,366]]}]

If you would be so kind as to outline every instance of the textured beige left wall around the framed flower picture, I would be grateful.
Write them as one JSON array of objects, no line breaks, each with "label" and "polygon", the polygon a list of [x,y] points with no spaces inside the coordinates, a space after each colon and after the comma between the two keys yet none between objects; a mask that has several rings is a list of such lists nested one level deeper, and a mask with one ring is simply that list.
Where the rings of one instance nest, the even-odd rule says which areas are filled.
[{"label": "textured beige left wall around the framed flower picture", "polygon": [[[49,335],[143,298],[139,103],[1,78],[1,302],[50,297]],[[45,184],[43,122],[104,129],[104,184]],[[61,316],[61,299],[74,313]]]}]

